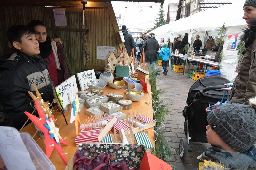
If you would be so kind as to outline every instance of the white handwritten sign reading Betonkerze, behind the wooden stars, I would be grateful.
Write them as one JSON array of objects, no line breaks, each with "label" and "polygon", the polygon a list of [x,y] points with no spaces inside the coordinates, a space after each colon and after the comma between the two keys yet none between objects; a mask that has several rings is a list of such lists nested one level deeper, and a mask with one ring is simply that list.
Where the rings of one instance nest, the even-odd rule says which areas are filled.
[{"label": "white handwritten sign reading Betonkerze, behind the wooden stars", "polygon": [[72,90],[74,92],[74,95],[78,93],[78,88],[76,84],[76,76],[73,75],[70,78],[68,78],[66,81],[61,83],[56,87],[56,90],[60,93],[60,97],[63,101],[63,108],[67,106],[67,104],[70,104],[72,101],[68,101],[68,96],[70,100],[72,100]]}]

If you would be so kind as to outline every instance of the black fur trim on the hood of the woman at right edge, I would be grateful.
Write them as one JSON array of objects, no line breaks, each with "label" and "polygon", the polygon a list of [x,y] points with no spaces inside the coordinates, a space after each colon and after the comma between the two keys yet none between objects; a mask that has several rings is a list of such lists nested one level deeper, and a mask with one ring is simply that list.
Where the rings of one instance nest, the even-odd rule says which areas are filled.
[{"label": "black fur trim on the hood of the woman at right edge", "polygon": [[253,20],[250,28],[242,29],[244,34],[241,36],[241,41],[245,42],[247,48],[256,38],[256,20]]}]

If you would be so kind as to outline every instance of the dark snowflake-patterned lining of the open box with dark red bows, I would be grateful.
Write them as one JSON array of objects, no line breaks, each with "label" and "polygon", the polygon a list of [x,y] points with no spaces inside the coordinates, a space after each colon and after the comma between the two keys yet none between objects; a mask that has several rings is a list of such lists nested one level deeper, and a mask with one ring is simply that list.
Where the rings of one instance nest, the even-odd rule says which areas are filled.
[{"label": "dark snowflake-patterned lining of the open box with dark red bows", "polygon": [[[99,161],[102,153],[108,156],[109,164],[122,163],[124,161],[128,169],[139,170],[140,162],[145,154],[145,146],[140,144],[79,144],[75,155],[84,156],[86,154],[87,160],[94,158],[96,162]],[[70,166],[74,165],[73,158],[71,158],[71,161],[72,163],[69,163]]]}]

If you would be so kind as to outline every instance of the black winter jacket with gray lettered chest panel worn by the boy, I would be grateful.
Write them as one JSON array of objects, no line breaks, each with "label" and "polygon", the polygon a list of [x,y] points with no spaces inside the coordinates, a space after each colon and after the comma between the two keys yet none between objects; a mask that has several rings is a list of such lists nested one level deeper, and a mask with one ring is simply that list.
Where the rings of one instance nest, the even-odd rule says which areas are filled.
[{"label": "black winter jacket with gray lettered chest panel worn by the boy", "polygon": [[[44,59],[40,56],[29,56],[22,52],[0,57],[0,102],[6,117],[16,124],[24,124],[27,116],[24,111],[32,113],[34,110],[28,91],[35,93],[33,83],[36,84],[44,101],[52,102],[53,93],[51,78]],[[16,123],[16,124],[15,124]]]}]

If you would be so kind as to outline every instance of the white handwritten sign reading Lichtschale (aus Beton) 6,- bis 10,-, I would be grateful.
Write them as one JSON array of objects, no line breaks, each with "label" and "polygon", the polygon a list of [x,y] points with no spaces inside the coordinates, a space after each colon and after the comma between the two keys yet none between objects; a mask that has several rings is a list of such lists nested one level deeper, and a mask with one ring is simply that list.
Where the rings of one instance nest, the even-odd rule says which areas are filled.
[{"label": "white handwritten sign reading Lichtschale (aus Beton) 6,- bis 10,-", "polygon": [[94,70],[88,70],[81,73],[77,73],[78,82],[80,84],[81,90],[84,91],[89,87],[86,85],[87,83],[92,84],[94,80],[96,80]]}]

